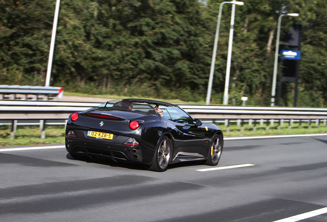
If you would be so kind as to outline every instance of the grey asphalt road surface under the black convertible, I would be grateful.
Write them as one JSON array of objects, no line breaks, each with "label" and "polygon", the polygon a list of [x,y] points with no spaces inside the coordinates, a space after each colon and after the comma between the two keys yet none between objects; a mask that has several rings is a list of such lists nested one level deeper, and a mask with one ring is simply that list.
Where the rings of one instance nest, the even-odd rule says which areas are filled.
[{"label": "grey asphalt road surface under the black convertible", "polygon": [[217,167],[237,168],[188,162],[163,173],[9,148],[0,147],[2,222],[270,222],[318,209],[283,222],[327,221],[327,136],[226,140]]}]

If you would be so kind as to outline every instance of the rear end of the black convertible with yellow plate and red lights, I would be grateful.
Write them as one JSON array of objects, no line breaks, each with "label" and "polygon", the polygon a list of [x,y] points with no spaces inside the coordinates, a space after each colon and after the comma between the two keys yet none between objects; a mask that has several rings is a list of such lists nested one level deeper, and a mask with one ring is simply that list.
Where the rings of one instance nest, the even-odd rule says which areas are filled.
[{"label": "rear end of the black convertible with yellow plate and red lights", "polygon": [[[141,140],[142,133],[147,131],[143,123],[144,119],[158,117],[138,108],[133,111],[97,107],[70,115],[66,125],[66,150],[80,157],[149,164],[153,147]],[[150,154],[144,157],[144,152]]]}]

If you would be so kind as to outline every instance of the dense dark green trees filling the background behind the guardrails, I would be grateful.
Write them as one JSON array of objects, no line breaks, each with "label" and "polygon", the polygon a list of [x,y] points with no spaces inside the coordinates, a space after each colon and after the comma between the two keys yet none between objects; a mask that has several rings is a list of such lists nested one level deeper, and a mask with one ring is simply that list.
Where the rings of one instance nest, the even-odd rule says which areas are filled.
[{"label": "dense dark green trees filling the background behind the guardrails", "polygon": [[[52,86],[89,94],[204,101],[222,0],[61,0]],[[247,0],[236,7],[229,103],[269,105],[277,20],[303,25],[299,106],[327,99],[323,0]],[[55,0],[0,0],[0,84],[44,85]],[[211,100],[222,103],[231,4],[224,5]],[[279,72],[279,79],[280,79]],[[293,105],[294,83],[281,105]]]}]

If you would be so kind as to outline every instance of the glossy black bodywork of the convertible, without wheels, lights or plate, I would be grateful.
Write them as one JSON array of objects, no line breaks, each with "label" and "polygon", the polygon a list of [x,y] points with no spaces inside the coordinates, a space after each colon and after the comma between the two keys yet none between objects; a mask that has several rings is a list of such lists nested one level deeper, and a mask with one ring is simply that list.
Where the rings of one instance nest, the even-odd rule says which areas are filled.
[{"label": "glossy black bodywork of the convertible, without wheels, lights or plate", "polygon": [[[155,104],[157,101],[148,100],[148,102]],[[172,105],[169,103],[161,104]],[[216,133],[222,134],[220,128],[212,123],[196,126],[195,124],[173,122],[156,115],[144,115],[122,110],[110,111],[110,116],[116,117],[117,120],[87,116],[88,113],[101,114],[106,112],[108,112],[107,108],[95,107],[81,112],[76,121],[68,118],[66,149],[69,153],[76,151],[82,151],[86,154],[97,152],[96,156],[110,157],[113,160],[122,159],[121,153],[130,162],[151,164],[159,139],[162,136],[168,136],[173,144],[170,163],[201,160],[207,159],[210,155],[210,144],[213,136]],[[141,123],[136,130],[131,130],[130,121],[137,119],[143,120],[144,123]],[[100,122],[103,122],[102,126],[100,126]],[[119,124],[117,124],[118,122]],[[69,130],[74,130],[77,138],[68,136]],[[89,138],[86,136],[87,131],[112,133],[114,138],[113,140]],[[135,138],[139,142],[139,146],[122,145],[129,137]],[[132,149],[137,150],[138,159],[133,158]]]}]

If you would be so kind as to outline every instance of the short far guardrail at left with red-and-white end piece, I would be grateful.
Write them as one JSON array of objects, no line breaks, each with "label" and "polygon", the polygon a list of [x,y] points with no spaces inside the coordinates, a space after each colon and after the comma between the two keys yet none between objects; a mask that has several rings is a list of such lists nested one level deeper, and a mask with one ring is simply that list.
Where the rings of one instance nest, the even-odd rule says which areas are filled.
[{"label": "short far guardrail at left with red-and-white end piece", "polygon": [[9,99],[17,99],[17,95],[22,95],[22,100],[27,100],[28,95],[32,95],[33,100],[39,100],[39,96],[44,96],[44,100],[49,97],[62,98],[63,88],[52,86],[21,86],[21,85],[0,85],[0,99],[4,100],[5,96],[10,95]]}]

